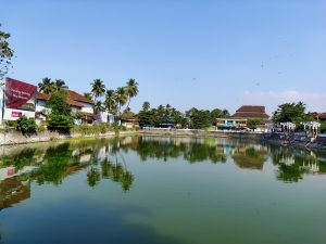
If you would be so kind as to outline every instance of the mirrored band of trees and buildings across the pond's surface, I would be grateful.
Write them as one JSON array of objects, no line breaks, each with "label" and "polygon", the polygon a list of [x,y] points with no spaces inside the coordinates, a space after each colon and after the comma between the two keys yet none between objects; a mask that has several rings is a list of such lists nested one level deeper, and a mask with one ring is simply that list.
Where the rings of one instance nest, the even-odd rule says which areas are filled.
[{"label": "mirrored band of trees and buildings across the pond's surface", "polygon": [[[59,144],[2,147],[0,153],[0,209],[30,197],[30,182],[59,185],[80,170],[96,188],[103,180],[127,192],[135,176],[125,155],[135,152],[142,162],[170,162],[183,158],[189,164],[235,164],[241,169],[264,170],[274,165],[276,179],[298,182],[305,175],[326,172],[325,153],[293,150],[253,141],[198,138],[127,137],[113,140],[66,142]],[[152,162],[152,160],[151,160]]]}]

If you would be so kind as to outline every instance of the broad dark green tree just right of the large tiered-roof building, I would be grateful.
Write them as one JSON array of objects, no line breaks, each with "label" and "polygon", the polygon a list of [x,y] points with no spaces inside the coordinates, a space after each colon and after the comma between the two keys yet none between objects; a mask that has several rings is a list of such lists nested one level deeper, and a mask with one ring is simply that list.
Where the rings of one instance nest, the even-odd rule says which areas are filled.
[{"label": "broad dark green tree just right of the large tiered-roof building", "polygon": [[298,103],[285,103],[278,105],[277,111],[273,114],[274,123],[294,123],[299,125],[301,121],[313,120],[313,116],[305,113],[305,104]]}]

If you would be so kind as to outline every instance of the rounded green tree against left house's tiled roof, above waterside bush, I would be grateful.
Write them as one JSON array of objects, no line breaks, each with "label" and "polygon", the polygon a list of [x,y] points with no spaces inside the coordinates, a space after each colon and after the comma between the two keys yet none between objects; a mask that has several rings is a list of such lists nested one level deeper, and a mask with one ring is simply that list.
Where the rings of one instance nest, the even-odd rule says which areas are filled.
[{"label": "rounded green tree against left house's tiled roof, above waterside bush", "polygon": [[71,114],[71,106],[66,103],[66,91],[64,90],[53,92],[46,106],[51,108],[51,113],[55,115],[68,116]]}]

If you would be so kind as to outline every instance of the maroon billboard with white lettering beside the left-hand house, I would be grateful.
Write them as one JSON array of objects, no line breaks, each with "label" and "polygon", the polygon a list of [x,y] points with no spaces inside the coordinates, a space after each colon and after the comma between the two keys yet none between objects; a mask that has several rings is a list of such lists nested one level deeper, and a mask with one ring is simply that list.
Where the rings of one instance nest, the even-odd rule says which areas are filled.
[{"label": "maroon billboard with white lettering beside the left-hand house", "polygon": [[36,86],[7,78],[4,91],[5,107],[34,111],[36,92]]}]

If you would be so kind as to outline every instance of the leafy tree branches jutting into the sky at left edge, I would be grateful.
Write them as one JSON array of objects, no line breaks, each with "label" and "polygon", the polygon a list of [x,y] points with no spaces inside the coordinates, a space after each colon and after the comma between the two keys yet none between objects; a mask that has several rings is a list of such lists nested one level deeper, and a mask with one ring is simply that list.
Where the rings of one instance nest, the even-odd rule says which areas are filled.
[{"label": "leafy tree branches jutting into the sky at left edge", "polygon": [[10,48],[8,42],[10,34],[0,29],[0,79],[7,75],[9,68],[11,67],[11,59],[14,55],[14,51]]}]

